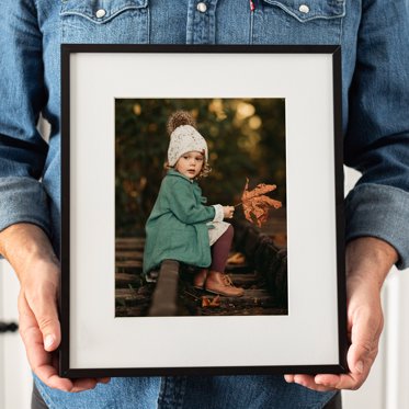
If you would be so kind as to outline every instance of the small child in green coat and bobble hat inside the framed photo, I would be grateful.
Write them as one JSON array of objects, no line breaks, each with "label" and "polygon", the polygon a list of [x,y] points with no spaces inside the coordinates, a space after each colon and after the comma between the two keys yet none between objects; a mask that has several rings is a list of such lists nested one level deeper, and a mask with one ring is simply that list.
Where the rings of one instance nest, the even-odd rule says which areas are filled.
[{"label": "small child in green coat and bobble hat inside the framed photo", "polygon": [[206,140],[183,111],[171,115],[168,132],[168,172],[146,224],[144,272],[177,260],[201,268],[193,280],[196,288],[239,297],[243,289],[225,274],[234,230],[223,220],[232,218],[235,208],[207,206],[197,184],[211,171]]}]

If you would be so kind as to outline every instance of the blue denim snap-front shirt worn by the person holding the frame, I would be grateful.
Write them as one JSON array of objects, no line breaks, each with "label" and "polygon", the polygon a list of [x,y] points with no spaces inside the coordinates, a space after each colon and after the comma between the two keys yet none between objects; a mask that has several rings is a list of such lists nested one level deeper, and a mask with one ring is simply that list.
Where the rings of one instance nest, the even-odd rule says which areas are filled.
[{"label": "blue denim snap-front shirt worn by the person holding the frame", "polygon": [[[408,266],[408,1],[258,0],[253,12],[249,0],[205,0],[205,11],[197,2],[3,2],[0,230],[33,223],[58,253],[60,43],[340,44],[344,158],[363,173],[345,202],[346,240],[378,237],[396,248],[398,266]],[[262,69],[253,75],[269,80]],[[36,129],[39,113],[52,125],[49,143]],[[76,396],[39,382],[38,389],[50,407],[75,408],[152,408],[158,396],[161,408],[320,408],[331,397],[280,376],[117,378]]]}]

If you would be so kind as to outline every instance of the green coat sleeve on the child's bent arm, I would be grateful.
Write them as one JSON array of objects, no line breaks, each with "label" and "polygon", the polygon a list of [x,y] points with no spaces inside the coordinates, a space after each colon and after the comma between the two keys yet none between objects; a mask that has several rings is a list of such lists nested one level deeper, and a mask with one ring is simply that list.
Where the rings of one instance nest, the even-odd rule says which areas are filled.
[{"label": "green coat sleeve on the child's bent arm", "polygon": [[214,219],[215,208],[196,202],[189,181],[177,179],[168,184],[166,192],[169,207],[180,221],[195,225]]}]

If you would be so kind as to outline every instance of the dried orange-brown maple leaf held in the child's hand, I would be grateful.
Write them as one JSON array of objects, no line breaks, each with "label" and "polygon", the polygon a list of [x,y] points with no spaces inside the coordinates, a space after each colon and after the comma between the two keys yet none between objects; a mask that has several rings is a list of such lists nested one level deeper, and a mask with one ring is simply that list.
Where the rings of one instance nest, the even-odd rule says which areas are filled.
[{"label": "dried orange-brown maple leaf held in the child's hand", "polygon": [[249,179],[246,181],[245,191],[241,196],[241,204],[245,217],[257,223],[259,227],[269,218],[271,207],[280,208],[282,203],[265,195],[276,189],[275,184],[260,183],[253,190],[249,191]]}]

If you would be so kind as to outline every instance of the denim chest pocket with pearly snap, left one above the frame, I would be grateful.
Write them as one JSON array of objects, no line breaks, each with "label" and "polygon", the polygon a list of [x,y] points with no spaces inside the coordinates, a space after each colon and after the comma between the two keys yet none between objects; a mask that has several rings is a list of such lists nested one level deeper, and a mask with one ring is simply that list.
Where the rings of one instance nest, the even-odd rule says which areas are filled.
[{"label": "denim chest pocket with pearly snap, left one above the frame", "polygon": [[149,42],[148,0],[63,0],[63,43]]}]

